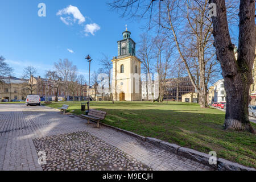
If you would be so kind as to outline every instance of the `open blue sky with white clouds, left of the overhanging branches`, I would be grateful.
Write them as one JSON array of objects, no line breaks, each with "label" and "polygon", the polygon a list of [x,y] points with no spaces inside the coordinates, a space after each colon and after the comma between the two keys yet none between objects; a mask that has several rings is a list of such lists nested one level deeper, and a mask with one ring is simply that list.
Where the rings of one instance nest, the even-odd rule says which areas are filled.
[{"label": "open blue sky with white clouds, left of the overhanging branches", "polygon": [[[46,4],[46,17],[38,16],[42,2]],[[135,42],[143,31],[142,22],[120,18],[100,0],[1,0],[0,22],[0,55],[17,77],[28,65],[43,77],[55,61],[67,58],[87,78],[86,55],[93,59],[92,71],[97,71],[102,53],[117,56],[117,40],[122,39],[125,24]]]}]

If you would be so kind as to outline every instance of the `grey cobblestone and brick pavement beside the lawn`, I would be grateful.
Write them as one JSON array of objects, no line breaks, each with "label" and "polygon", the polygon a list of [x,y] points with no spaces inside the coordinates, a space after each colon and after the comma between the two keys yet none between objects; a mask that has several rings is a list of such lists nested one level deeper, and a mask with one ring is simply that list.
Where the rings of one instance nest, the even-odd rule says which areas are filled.
[{"label": "grey cobblestone and brick pavement beside the lawn", "polygon": [[[40,150],[46,152],[46,165],[38,164]],[[0,104],[0,170],[59,169],[212,170],[49,107]]]}]

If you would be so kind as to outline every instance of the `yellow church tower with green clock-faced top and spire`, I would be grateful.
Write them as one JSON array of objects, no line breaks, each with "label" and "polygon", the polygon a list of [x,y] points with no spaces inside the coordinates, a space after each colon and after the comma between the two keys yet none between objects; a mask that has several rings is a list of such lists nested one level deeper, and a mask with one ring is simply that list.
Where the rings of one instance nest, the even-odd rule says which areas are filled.
[{"label": "yellow church tower with green clock-faced top and spire", "polygon": [[141,60],[135,56],[136,43],[131,32],[123,32],[117,42],[118,56],[113,57],[112,93],[114,101],[141,101]]}]

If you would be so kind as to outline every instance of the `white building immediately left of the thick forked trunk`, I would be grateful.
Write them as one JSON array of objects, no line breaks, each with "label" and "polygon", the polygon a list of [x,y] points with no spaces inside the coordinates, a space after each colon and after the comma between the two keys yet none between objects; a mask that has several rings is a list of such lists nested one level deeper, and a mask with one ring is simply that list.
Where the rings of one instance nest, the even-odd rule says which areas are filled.
[{"label": "white building immediately left of the thick forked trunk", "polygon": [[214,102],[226,102],[226,92],[224,88],[224,79],[214,83]]}]

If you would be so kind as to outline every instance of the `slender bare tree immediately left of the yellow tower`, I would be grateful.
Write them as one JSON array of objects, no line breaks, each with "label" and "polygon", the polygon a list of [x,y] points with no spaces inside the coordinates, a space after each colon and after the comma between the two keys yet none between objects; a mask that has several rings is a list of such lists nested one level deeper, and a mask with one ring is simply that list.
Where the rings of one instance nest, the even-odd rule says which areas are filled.
[{"label": "slender bare tree immediately left of the yellow tower", "polygon": [[105,69],[105,73],[108,75],[108,86],[109,86],[109,93],[110,93],[110,98],[112,100],[112,103],[114,104],[114,99],[113,99],[113,94],[112,94],[112,84],[111,84],[111,71],[112,71],[112,61],[110,60],[110,58],[106,55],[103,54],[103,58],[101,59],[101,65],[104,67]]}]

